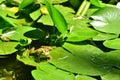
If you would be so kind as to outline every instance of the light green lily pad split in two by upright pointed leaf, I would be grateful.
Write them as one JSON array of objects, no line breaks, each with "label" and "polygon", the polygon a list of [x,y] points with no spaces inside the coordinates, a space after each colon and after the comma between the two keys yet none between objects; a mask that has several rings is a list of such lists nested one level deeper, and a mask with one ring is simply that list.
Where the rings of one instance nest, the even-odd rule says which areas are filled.
[{"label": "light green lily pad split in two by upright pointed leaf", "polygon": [[[62,5],[54,5],[54,7],[61,12],[65,20],[67,21],[67,23],[72,22],[71,20],[73,19],[73,16],[74,16],[73,13],[75,13],[73,9],[69,7],[64,7]],[[41,22],[45,25],[50,25],[50,26],[54,25],[49,14],[43,15],[37,22]]]}]

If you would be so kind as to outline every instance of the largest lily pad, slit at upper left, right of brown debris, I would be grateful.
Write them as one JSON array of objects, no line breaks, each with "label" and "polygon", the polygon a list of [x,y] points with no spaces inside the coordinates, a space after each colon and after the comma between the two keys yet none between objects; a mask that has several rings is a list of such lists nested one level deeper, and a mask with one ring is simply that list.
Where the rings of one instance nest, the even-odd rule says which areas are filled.
[{"label": "largest lily pad, slit at upper left, right of brown debris", "polygon": [[96,47],[91,45],[74,45],[65,43],[63,48],[59,47],[50,52],[52,60],[49,62],[56,67],[73,73],[84,75],[102,75],[109,71],[106,66],[96,65],[92,59],[101,53]]}]

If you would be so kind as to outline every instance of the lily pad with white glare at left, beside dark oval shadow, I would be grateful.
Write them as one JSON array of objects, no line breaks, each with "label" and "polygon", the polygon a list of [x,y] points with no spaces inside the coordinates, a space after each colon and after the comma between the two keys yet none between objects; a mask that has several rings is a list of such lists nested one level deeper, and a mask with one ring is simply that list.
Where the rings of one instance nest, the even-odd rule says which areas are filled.
[{"label": "lily pad with white glare at left, beside dark oval shadow", "polygon": [[28,26],[19,26],[16,30],[9,31],[7,33],[2,34],[2,36],[8,37],[11,40],[19,41],[20,39],[26,38],[24,33],[30,30],[35,30],[35,28]]}]

